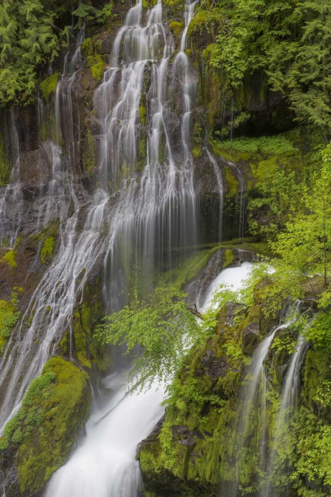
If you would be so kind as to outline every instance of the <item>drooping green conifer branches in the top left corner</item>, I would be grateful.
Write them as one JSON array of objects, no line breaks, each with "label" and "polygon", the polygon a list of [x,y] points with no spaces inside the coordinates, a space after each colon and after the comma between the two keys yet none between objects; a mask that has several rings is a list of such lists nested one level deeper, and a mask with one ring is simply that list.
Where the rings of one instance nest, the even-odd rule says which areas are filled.
[{"label": "drooping green conifer branches in the top left corner", "polygon": [[0,106],[30,103],[41,68],[52,64],[67,46],[72,27],[98,16],[101,11],[78,0],[2,1]]}]

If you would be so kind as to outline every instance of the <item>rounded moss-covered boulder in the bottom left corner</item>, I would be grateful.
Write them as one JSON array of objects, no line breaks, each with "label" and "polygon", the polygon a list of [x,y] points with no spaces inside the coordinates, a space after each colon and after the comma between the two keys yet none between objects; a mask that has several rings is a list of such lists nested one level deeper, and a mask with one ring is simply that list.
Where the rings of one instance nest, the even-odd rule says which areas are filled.
[{"label": "rounded moss-covered boulder in the bottom left corner", "polygon": [[90,396],[87,374],[73,363],[53,357],[45,364],[0,437],[8,497],[42,495],[84,430]]}]

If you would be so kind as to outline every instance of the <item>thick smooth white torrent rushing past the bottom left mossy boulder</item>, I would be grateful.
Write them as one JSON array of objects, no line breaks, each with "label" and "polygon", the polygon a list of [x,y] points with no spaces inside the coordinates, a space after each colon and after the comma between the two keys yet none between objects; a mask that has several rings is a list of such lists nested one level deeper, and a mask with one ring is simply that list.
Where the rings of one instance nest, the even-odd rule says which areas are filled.
[{"label": "thick smooth white torrent rushing past the bottom left mossy boulder", "polygon": [[[46,497],[140,495],[142,482],[136,447],[162,416],[163,397],[164,387],[158,388],[155,383],[140,394],[125,393],[120,387],[103,412],[93,413],[82,445],[55,473]],[[109,410],[110,414],[95,423]]]}]

